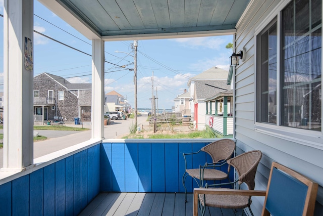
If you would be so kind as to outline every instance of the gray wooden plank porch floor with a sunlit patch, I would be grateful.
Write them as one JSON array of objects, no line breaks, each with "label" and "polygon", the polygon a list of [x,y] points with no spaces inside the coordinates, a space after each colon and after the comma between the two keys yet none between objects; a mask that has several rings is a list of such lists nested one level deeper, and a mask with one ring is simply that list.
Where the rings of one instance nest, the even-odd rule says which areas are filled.
[{"label": "gray wooden plank porch floor with a sunlit patch", "polygon": [[[193,194],[184,193],[100,193],[79,215],[192,216]],[[200,214],[199,214],[200,215]],[[232,209],[207,208],[205,215],[241,215]]]}]

